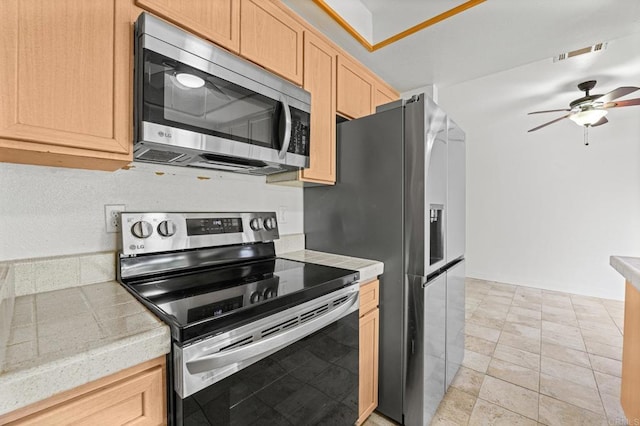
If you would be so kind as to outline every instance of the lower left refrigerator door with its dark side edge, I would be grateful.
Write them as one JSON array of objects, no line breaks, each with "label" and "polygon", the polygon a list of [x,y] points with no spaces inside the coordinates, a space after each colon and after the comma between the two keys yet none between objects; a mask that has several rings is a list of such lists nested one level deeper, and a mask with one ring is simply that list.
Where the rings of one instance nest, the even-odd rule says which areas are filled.
[{"label": "lower left refrigerator door with its dark side edge", "polygon": [[429,424],[444,396],[446,284],[446,273],[428,282],[425,277],[407,276],[407,426]]}]

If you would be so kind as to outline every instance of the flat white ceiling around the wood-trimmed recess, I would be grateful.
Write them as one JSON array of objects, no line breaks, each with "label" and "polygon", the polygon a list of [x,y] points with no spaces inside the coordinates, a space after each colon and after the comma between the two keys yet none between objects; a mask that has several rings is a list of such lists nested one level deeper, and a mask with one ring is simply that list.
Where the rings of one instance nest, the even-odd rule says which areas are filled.
[{"label": "flat white ceiling around the wood-trimmed recess", "polygon": [[[313,1],[283,1],[400,92],[427,85],[450,86],[640,33],[638,0],[487,0],[368,52]],[[433,10],[431,2],[424,0],[362,2],[372,11],[376,41],[380,40],[376,36],[379,31],[406,29],[418,23],[417,17],[426,20]],[[640,47],[630,49],[628,55],[630,60],[640,57]],[[577,61],[575,64],[579,67]]]}]

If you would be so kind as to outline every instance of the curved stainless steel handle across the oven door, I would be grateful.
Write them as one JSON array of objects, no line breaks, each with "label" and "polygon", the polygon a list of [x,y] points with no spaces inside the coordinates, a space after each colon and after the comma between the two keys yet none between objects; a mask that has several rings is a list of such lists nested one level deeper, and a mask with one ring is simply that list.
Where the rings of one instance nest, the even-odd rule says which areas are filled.
[{"label": "curved stainless steel handle across the oven door", "polygon": [[187,361],[187,370],[191,374],[205,373],[228,365],[249,361],[262,355],[269,355],[278,349],[300,340],[301,338],[342,318],[354,307],[354,305],[357,307],[358,299],[358,292],[355,292],[340,307],[288,331],[276,334],[273,337],[258,340],[255,343],[250,343],[236,349],[216,352],[211,355],[205,355],[194,360]]}]

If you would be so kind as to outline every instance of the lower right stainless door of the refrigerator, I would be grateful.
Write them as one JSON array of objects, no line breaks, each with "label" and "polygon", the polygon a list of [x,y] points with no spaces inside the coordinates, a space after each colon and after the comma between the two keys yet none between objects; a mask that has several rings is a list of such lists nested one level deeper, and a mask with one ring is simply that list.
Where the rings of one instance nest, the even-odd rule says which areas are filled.
[{"label": "lower right stainless door of the refrigerator", "polygon": [[449,389],[464,358],[465,265],[464,260],[447,270],[447,375]]}]

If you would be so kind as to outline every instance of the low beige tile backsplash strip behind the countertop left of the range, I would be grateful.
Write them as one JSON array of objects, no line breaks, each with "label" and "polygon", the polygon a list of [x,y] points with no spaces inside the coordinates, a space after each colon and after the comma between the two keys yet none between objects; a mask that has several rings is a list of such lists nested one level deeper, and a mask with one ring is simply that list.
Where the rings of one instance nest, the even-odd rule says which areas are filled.
[{"label": "low beige tile backsplash strip behind the countertop left of the range", "polygon": [[16,296],[116,279],[115,252],[23,259],[12,266]]}]

